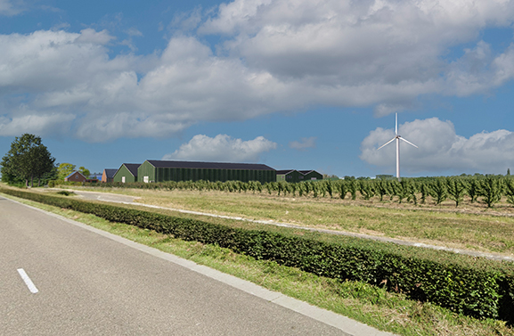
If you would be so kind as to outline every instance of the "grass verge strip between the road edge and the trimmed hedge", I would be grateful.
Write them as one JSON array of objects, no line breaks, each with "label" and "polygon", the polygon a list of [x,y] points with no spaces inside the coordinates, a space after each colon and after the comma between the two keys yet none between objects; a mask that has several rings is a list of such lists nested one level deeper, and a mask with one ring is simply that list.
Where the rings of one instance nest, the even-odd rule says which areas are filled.
[{"label": "grass verge strip between the road edge and the trimmed hedge", "polygon": [[399,335],[514,335],[514,331],[501,321],[460,316],[447,309],[405,299],[401,294],[365,283],[339,282],[296,268],[279,266],[274,262],[238,255],[214,245],[184,242],[135,226],[110,223],[92,215],[32,201],[16,201],[238,276],[380,330]]}]

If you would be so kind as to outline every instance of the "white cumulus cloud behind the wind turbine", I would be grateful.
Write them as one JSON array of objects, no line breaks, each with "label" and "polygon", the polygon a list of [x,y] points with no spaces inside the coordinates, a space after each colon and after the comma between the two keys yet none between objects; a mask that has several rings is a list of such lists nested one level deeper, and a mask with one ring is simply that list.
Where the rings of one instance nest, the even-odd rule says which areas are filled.
[{"label": "white cumulus cloud behind the wind turbine", "polygon": [[[455,133],[451,121],[432,118],[406,122],[398,127],[398,134],[419,146],[416,149],[407,143],[400,144],[401,168],[407,173],[503,174],[507,168],[514,167],[514,133],[505,129],[466,138]],[[361,160],[395,171],[395,143],[377,150],[394,136],[394,129],[379,127],[371,131],[361,143]]]}]

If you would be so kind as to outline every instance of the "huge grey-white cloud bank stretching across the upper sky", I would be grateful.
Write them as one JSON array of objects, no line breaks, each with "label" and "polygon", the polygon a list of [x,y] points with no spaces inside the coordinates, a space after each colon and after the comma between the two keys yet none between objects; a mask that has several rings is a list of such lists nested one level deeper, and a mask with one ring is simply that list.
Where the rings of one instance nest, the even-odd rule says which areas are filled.
[{"label": "huge grey-white cloud bank stretching across the upper sky", "polygon": [[[12,4],[0,0],[0,11]],[[320,105],[383,116],[423,94],[510,81],[514,45],[495,51],[480,33],[512,23],[514,3],[502,0],[234,0],[176,18],[166,49],[148,55],[111,54],[107,30],[0,35],[0,117],[9,125],[27,106],[100,142]],[[209,34],[222,45],[208,45]],[[446,58],[452,50],[461,56]]]}]

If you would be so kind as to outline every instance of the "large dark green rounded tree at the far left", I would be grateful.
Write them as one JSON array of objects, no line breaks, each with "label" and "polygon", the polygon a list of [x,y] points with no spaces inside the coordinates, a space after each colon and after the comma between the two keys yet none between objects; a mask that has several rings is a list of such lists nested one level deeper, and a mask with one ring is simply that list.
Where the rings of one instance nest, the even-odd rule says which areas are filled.
[{"label": "large dark green rounded tree at the far left", "polygon": [[[47,174],[52,173],[55,159],[46,146],[41,143],[41,137],[24,134],[15,137],[11,143],[11,150],[2,158],[2,179],[13,183],[25,180],[25,185],[34,185],[34,178],[39,181]],[[5,178],[4,178],[5,175]]]}]

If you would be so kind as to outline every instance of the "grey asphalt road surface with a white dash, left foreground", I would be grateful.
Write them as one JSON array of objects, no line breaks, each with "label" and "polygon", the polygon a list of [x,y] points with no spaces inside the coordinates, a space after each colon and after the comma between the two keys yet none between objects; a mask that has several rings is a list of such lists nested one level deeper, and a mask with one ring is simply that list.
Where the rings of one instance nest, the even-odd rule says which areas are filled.
[{"label": "grey asphalt road surface with a white dash, left foreground", "polygon": [[0,197],[0,334],[349,333]]}]

